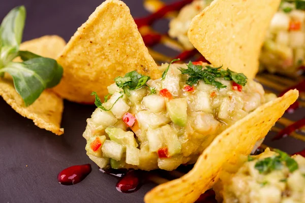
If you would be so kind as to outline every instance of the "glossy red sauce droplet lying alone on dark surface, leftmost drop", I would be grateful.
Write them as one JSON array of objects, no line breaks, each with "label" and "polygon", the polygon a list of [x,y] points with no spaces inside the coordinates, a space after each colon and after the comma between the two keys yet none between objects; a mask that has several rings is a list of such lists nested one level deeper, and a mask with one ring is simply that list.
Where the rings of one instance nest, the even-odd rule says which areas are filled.
[{"label": "glossy red sauce droplet lying alone on dark surface, leftmost drop", "polygon": [[75,185],[86,178],[91,172],[91,165],[74,165],[65,168],[57,175],[57,180],[62,185]]}]

